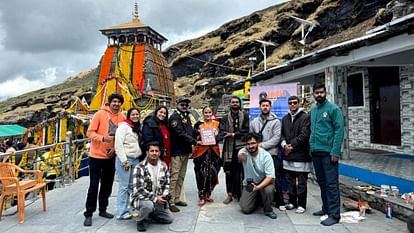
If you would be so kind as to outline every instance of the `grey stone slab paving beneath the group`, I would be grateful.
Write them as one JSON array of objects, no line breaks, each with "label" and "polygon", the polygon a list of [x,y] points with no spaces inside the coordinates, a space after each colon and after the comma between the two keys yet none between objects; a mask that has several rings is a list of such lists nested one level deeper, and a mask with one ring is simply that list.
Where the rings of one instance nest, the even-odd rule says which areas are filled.
[{"label": "grey stone slab paving beneath the group", "polygon": [[[408,232],[406,224],[398,219],[386,219],[384,214],[374,211],[367,215],[367,219],[358,224],[337,224],[333,227],[320,225],[318,217],[311,215],[320,208],[319,188],[309,182],[308,209],[304,214],[296,214],[294,211],[281,212],[276,220],[263,215],[259,208],[251,215],[240,212],[238,202],[230,205],[221,203],[224,200],[225,185],[223,173],[220,174],[220,184],[213,194],[214,203],[208,203],[202,208],[197,206],[197,191],[195,185],[192,161],[188,166],[185,187],[188,207],[180,208],[179,213],[174,214],[174,222],[170,225],[150,224],[147,232],[189,232],[189,233],[325,233],[325,232]],[[97,214],[93,217],[93,226],[83,227],[83,211],[88,187],[88,178],[81,178],[74,184],[65,188],[59,188],[47,193],[48,210],[41,210],[41,202],[37,200],[26,207],[26,222],[18,224],[16,214],[12,214],[15,208],[6,211],[6,215],[0,221],[1,233],[69,233],[69,232],[137,232],[135,220],[104,219]],[[115,213],[116,189],[114,184],[113,195],[110,198],[109,211]],[[27,201],[29,204],[30,201]]]}]

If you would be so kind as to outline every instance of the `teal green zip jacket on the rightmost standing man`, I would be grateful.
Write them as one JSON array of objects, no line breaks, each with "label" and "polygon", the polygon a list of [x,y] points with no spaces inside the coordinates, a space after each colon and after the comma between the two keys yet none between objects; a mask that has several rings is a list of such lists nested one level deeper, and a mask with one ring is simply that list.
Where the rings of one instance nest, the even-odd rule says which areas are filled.
[{"label": "teal green zip jacket on the rightmost standing man", "polygon": [[311,109],[311,152],[329,152],[341,155],[344,140],[344,116],[338,106],[326,100]]}]

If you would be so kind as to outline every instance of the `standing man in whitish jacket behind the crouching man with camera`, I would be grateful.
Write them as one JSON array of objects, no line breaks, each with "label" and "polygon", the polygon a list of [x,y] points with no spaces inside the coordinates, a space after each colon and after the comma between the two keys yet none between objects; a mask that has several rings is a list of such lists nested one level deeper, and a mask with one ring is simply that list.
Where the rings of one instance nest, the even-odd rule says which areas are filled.
[{"label": "standing man in whitish jacket behind the crouching man with camera", "polygon": [[277,116],[271,112],[272,101],[262,98],[259,101],[260,115],[253,119],[250,123],[250,132],[255,133],[260,137],[259,147],[265,149],[272,155],[274,167],[275,167],[275,202],[276,206],[281,211],[286,210],[285,203],[283,201],[282,189],[278,180],[282,175],[283,164],[278,158],[278,147],[280,143],[281,123]]}]

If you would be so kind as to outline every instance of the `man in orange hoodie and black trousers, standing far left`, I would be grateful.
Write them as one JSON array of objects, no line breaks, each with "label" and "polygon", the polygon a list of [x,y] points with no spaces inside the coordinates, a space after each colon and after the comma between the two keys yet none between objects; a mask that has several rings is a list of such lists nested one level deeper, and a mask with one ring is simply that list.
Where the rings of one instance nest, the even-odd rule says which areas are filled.
[{"label": "man in orange hoodie and black trousers, standing far left", "polygon": [[[108,104],[93,116],[87,136],[91,139],[89,152],[89,189],[86,198],[84,226],[92,226],[92,215],[96,210],[99,191],[99,216],[113,218],[106,212],[108,199],[112,192],[115,175],[114,139],[118,124],[125,120],[121,112],[124,97],[113,93],[108,97]],[[100,183],[100,189],[99,189]]]}]

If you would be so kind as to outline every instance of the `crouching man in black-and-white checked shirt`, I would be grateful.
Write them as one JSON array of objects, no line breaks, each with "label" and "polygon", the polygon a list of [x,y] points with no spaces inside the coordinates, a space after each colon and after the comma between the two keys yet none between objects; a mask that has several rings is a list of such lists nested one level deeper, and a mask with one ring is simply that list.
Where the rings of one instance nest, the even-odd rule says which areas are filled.
[{"label": "crouching man in black-and-white checked shirt", "polygon": [[159,159],[158,142],[147,144],[147,157],[134,168],[131,204],[139,211],[137,230],[146,231],[144,220],[151,218],[161,224],[173,221],[168,206],[170,173],[167,165]]}]

